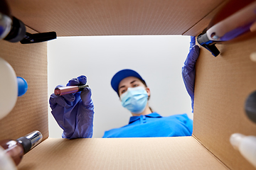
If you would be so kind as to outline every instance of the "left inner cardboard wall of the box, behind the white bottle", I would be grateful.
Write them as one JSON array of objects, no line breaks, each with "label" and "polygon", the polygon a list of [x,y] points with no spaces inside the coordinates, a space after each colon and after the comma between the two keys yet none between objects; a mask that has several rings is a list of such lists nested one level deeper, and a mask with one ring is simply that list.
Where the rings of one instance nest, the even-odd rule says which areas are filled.
[{"label": "left inner cardboard wall of the box, behind the white bottle", "polygon": [[11,64],[17,77],[28,83],[26,94],[18,97],[11,113],[0,120],[0,140],[17,139],[33,130],[42,132],[45,140],[48,137],[47,42],[21,45],[1,40],[0,46],[0,57]]}]

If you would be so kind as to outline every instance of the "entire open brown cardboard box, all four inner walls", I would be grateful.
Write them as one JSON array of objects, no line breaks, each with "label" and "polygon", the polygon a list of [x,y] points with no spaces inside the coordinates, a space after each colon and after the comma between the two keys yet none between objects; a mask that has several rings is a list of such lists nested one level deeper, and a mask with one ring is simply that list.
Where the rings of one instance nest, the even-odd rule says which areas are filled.
[{"label": "entire open brown cardboard box, all four inner walls", "polygon": [[[9,1],[28,32],[71,35],[198,35],[227,1]],[[256,135],[244,111],[256,89],[256,38],[218,45],[213,57],[201,47],[196,63],[191,137],[51,139],[48,137],[47,43],[1,41],[0,57],[28,81],[27,93],[0,120],[0,140],[32,130],[43,142],[18,169],[255,169],[230,145],[234,132]]]}]

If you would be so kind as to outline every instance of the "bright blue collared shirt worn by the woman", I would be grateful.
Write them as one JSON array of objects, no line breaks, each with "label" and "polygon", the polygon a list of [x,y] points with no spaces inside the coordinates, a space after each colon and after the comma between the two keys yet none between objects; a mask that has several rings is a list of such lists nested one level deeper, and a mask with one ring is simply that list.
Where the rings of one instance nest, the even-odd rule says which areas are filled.
[{"label": "bright blue collared shirt worn by the woman", "polygon": [[178,137],[191,136],[193,120],[188,115],[162,117],[158,113],[132,116],[129,124],[105,132],[103,137]]}]

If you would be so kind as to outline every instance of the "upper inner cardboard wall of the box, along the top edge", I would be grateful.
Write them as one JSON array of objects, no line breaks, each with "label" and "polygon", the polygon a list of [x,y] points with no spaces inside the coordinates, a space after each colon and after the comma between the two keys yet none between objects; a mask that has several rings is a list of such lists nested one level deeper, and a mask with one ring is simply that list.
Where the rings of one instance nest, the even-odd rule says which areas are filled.
[{"label": "upper inner cardboard wall of the box, along the top edge", "polygon": [[[9,0],[11,11],[39,33],[58,36],[183,35],[199,21],[205,28],[225,0],[165,1],[33,1]],[[202,21],[203,20],[203,21]],[[198,35],[193,29],[186,35]]]}]

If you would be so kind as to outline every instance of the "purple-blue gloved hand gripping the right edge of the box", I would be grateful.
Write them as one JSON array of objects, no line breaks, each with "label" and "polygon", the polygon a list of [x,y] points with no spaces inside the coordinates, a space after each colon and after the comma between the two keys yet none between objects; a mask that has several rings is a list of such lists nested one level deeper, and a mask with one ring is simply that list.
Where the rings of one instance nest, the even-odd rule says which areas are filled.
[{"label": "purple-blue gloved hand gripping the right edge of the box", "polygon": [[198,45],[196,45],[195,37],[191,36],[188,56],[182,67],[182,78],[186,86],[186,90],[188,91],[189,96],[191,96],[192,113],[193,113],[194,86],[195,86],[195,76],[196,76],[195,64],[199,56],[199,51],[200,49]]}]

